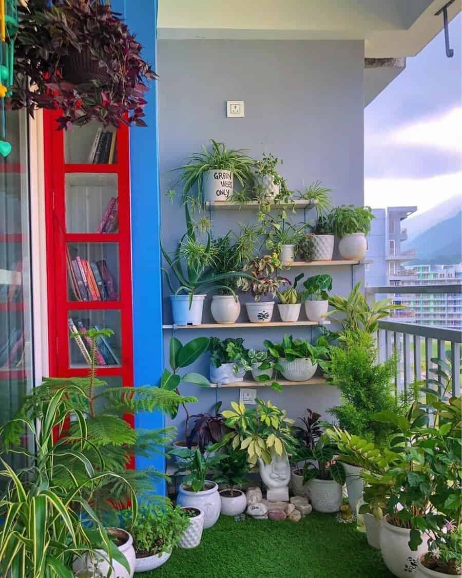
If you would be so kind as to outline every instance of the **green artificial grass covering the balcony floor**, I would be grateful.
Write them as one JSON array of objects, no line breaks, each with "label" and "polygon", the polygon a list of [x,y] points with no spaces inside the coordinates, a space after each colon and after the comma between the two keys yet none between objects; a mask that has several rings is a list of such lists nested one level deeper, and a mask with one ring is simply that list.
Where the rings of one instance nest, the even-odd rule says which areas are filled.
[{"label": "green artificial grass covering the balcony floor", "polygon": [[393,578],[355,525],[313,512],[299,522],[220,516],[193,550],[143,578]]}]

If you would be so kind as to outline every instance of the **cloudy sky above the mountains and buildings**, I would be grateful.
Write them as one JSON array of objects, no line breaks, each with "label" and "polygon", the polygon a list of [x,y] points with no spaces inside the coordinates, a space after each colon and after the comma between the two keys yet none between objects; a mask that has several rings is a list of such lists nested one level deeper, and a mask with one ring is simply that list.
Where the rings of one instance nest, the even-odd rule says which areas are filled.
[{"label": "cloudy sky above the mountains and buildings", "polygon": [[367,205],[421,212],[462,191],[461,25],[449,25],[453,58],[441,32],[367,106]]}]

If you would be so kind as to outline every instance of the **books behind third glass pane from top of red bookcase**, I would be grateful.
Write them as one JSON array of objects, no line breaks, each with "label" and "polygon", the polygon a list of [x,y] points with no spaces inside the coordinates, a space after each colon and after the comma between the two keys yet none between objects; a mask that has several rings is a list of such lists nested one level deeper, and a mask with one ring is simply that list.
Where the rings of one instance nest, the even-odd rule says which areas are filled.
[{"label": "books behind third glass pane from top of red bookcase", "polygon": [[117,301],[114,279],[106,261],[70,258],[66,251],[66,266],[70,289],[76,301]]}]

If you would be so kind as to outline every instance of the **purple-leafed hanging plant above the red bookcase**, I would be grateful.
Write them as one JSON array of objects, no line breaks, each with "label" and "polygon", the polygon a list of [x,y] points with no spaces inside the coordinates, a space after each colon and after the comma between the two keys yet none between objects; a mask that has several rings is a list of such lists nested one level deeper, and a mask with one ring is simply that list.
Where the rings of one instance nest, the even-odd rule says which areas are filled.
[{"label": "purple-leafed hanging plant above the red bookcase", "polygon": [[29,0],[18,12],[13,108],[61,109],[60,129],[146,126],[144,94],[157,75],[120,14],[98,0]]}]

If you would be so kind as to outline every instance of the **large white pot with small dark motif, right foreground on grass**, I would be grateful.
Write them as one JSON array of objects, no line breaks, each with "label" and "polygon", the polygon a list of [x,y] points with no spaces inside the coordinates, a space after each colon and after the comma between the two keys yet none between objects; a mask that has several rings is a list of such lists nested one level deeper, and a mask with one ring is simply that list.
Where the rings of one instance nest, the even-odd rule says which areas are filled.
[{"label": "large white pot with small dark motif, right foreground on grass", "polygon": [[382,550],[383,562],[397,578],[415,576],[417,560],[428,550],[428,536],[422,536],[422,544],[416,551],[409,548],[411,530],[398,528],[389,524],[386,518],[382,521],[380,532],[380,549]]}]

